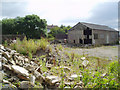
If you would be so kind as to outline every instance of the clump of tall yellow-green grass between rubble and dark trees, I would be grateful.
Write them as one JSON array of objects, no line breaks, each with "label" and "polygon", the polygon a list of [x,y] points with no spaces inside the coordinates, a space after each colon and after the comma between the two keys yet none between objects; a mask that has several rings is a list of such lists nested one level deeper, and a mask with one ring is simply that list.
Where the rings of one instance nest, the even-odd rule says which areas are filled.
[{"label": "clump of tall yellow-green grass between rubble and dark trees", "polygon": [[40,40],[33,40],[25,37],[22,41],[17,38],[16,43],[12,43],[10,45],[11,49],[15,49],[17,52],[24,54],[24,55],[30,55],[35,54],[37,50],[46,50],[47,45],[50,45],[47,39],[40,39]]}]

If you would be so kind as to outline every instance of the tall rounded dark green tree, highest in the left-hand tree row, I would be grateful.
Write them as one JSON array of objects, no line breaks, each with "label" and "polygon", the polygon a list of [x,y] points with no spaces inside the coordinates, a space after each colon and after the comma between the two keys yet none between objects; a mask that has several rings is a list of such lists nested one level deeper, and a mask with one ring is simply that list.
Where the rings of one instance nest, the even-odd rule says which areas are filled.
[{"label": "tall rounded dark green tree, highest in the left-hand tree row", "polygon": [[46,36],[46,26],[46,21],[40,19],[37,15],[27,15],[24,18],[25,34],[29,37],[39,38],[39,36]]}]

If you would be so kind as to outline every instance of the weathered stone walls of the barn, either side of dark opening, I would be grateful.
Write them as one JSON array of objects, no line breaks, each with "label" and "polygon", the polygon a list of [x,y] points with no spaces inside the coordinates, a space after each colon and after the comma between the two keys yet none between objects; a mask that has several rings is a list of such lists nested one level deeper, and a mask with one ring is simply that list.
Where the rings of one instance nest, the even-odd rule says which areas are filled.
[{"label": "weathered stone walls of the barn, either side of dark opening", "polygon": [[[83,30],[74,28],[68,32],[68,43],[80,44],[79,39],[84,39]],[[98,34],[98,39],[94,39],[94,34]],[[92,44],[116,44],[118,41],[118,32],[105,30],[92,30]],[[83,40],[84,43],[84,40]]]}]

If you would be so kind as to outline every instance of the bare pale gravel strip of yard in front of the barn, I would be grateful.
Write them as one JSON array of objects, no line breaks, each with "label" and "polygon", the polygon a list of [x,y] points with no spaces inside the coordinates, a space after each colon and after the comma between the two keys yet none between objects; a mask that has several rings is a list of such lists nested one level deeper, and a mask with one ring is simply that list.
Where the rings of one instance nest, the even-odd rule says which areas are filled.
[{"label": "bare pale gravel strip of yard in front of the barn", "polygon": [[74,52],[76,54],[88,54],[88,56],[101,57],[106,59],[118,59],[118,46],[101,46],[96,48],[66,48],[67,52]]}]

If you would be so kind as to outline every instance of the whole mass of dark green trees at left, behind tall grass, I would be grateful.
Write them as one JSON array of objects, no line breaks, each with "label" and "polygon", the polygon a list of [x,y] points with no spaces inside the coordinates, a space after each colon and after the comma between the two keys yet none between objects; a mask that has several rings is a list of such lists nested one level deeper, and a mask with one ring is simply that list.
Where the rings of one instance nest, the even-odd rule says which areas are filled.
[{"label": "whole mass of dark green trees at left, behind tall grass", "polygon": [[27,38],[47,36],[47,21],[34,14],[13,19],[5,18],[0,20],[1,22],[3,35],[25,35]]}]

